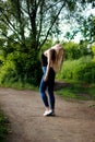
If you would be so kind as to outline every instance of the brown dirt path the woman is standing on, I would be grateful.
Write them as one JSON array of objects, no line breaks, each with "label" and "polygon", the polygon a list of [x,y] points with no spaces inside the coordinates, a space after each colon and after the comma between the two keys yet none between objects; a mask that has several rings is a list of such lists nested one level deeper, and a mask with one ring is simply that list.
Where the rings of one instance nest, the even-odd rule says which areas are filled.
[{"label": "brown dirt path the woman is standing on", "polygon": [[95,102],[56,96],[56,117],[43,117],[38,92],[0,88],[0,106],[11,121],[8,142],[95,142]]}]

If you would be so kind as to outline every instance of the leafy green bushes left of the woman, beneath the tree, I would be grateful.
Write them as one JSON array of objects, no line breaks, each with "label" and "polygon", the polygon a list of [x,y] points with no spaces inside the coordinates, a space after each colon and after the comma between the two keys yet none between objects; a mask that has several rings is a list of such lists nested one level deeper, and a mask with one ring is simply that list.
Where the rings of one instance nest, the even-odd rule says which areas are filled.
[{"label": "leafy green bushes left of the woman, beneath the tree", "polygon": [[40,62],[37,52],[14,51],[8,54],[0,67],[0,84],[21,84],[39,85],[41,76]]}]

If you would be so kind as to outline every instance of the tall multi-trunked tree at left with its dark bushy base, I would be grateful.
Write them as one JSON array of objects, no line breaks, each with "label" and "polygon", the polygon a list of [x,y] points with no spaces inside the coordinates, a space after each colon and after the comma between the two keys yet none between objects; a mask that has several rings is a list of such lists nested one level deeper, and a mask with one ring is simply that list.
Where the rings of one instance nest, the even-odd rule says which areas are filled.
[{"label": "tall multi-trunked tree at left with its dark bushy base", "polygon": [[22,80],[39,71],[35,61],[47,38],[60,34],[60,13],[68,19],[87,2],[94,0],[0,0],[0,38],[4,39],[0,48]]}]

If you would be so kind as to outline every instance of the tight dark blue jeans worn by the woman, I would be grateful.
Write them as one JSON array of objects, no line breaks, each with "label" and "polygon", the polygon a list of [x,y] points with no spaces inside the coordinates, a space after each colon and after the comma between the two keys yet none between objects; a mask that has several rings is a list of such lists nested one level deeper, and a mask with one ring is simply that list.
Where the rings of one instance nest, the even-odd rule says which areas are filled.
[{"label": "tight dark blue jeans worn by the woman", "polygon": [[[55,109],[55,95],[54,95],[55,71],[52,70],[52,68],[50,68],[48,81],[45,82],[44,76],[46,73],[46,69],[47,67],[43,67],[44,75],[40,81],[39,93],[45,106],[49,107],[50,105],[50,109]],[[46,91],[48,92],[49,97],[47,97]],[[48,103],[48,98],[49,98],[49,103]]]}]

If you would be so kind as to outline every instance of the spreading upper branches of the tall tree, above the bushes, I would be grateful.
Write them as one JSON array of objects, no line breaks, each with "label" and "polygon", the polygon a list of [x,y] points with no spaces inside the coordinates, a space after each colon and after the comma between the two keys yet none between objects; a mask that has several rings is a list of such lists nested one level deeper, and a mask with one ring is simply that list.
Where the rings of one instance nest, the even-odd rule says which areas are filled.
[{"label": "spreading upper branches of the tall tree, above the bushes", "polygon": [[94,0],[1,0],[0,25],[7,31],[1,27],[0,34],[23,47],[26,47],[25,42],[29,37],[32,48],[40,49],[49,35],[60,32],[61,12],[63,19],[71,13],[74,15],[74,11],[80,11],[80,7],[87,2],[93,4]]}]

